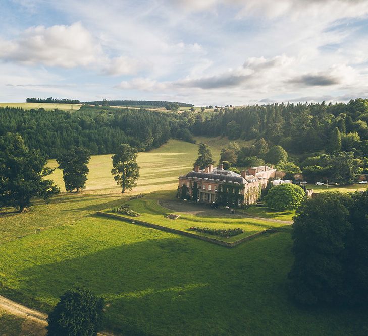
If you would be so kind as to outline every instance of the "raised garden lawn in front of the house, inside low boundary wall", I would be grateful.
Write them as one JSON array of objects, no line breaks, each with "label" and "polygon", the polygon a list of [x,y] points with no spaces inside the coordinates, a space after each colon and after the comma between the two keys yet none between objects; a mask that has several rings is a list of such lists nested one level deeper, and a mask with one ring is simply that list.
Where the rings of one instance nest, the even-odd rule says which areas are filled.
[{"label": "raised garden lawn in front of the house, inside low boundary wall", "polygon": [[[222,240],[226,242],[234,242],[240,240],[244,237],[248,237],[254,233],[259,231],[264,231],[273,227],[283,227],[287,226],[285,223],[273,222],[273,221],[262,221],[259,219],[244,217],[243,213],[236,210],[234,215],[230,214],[229,210],[225,209],[211,209],[208,206],[203,205],[194,205],[192,206],[194,209],[198,209],[198,214],[188,214],[186,212],[173,211],[168,208],[164,208],[159,205],[159,200],[165,199],[175,199],[175,192],[171,193],[151,193],[143,198],[135,199],[129,201],[130,208],[140,214],[139,217],[131,217],[127,215],[122,215],[119,213],[114,213],[117,216],[123,216],[126,218],[131,218],[132,221],[140,220],[143,222],[161,225],[167,228],[176,229],[185,232],[191,232],[195,235],[206,236],[210,238],[215,238],[217,240]],[[183,203],[182,200],[176,201],[178,207],[180,203]],[[189,208],[189,207],[188,207]],[[106,211],[107,213],[111,213],[111,211]],[[195,211],[193,211],[194,213]],[[176,220],[172,220],[166,218],[169,214],[180,215],[180,217]],[[221,237],[218,235],[206,234],[203,232],[197,232],[190,230],[190,227],[208,227],[211,229],[243,229],[244,232],[232,236],[229,238]]]}]

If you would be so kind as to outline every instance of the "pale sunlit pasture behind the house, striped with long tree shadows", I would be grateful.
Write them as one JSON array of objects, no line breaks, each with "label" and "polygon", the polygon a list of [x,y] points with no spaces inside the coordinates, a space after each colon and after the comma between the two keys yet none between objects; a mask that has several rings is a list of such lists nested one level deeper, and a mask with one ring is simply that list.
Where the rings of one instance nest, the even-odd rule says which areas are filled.
[{"label": "pale sunlit pasture behind the house, striped with long tree shadows", "polygon": [[[196,138],[197,143],[205,142],[211,145],[215,164],[219,163],[221,148],[229,144],[226,137],[220,138]],[[245,144],[247,142],[240,142]],[[156,190],[176,189],[178,176],[193,169],[193,163],[198,156],[198,146],[180,140],[171,139],[167,144],[150,152],[138,153],[138,165],[140,178],[138,186],[134,188],[135,193],[146,193]],[[48,166],[56,168],[56,160],[49,160]],[[111,154],[93,155],[89,163],[89,174],[87,180],[88,193],[118,193],[118,186],[111,175],[113,168]],[[64,189],[62,171],[57,169],[51,178]],[[131,192],[128,192],[128,194]]]}]

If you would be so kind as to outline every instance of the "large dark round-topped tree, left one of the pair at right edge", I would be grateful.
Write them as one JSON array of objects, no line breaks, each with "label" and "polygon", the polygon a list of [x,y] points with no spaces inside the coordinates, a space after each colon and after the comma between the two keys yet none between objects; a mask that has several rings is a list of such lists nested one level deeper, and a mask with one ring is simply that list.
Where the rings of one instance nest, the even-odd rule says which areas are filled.
[{"label": "large dark round-topped tree, left one of the pair at right edge", "polygon": [[292,231],[294,264],[289,278],[291,296],[298,303],[334,303],[344,296],[351,203],[348,194],[323,192],[297,210]]}]

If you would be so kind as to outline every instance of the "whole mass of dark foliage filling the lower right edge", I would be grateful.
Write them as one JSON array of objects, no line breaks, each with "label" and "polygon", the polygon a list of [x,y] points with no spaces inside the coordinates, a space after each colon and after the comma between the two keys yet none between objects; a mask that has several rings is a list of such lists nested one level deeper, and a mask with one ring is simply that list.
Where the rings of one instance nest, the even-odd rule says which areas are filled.
[{"label": "whole mass of dark foliage filling the lower right edge", "polygon": [[291,295],[299,303],[366,304],[368,192],[324,192],[309,199],[293,225]]}]

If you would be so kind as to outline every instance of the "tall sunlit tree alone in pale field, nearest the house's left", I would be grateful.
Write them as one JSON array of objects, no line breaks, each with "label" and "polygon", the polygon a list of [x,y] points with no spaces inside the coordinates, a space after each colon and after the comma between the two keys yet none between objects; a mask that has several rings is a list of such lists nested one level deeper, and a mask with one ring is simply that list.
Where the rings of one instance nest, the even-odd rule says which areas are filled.
[{"label": "tall sunlit tree alone in pale field, nearest the house's left", "polygon": [[111,173],[114,175],[116,183],[121,185],[122,193],[125,190],[132,190],[133,187],[137,186],[135,181],[139,178],[137,150],[128,144],[121,144],[111,158],[114,167]]}]

